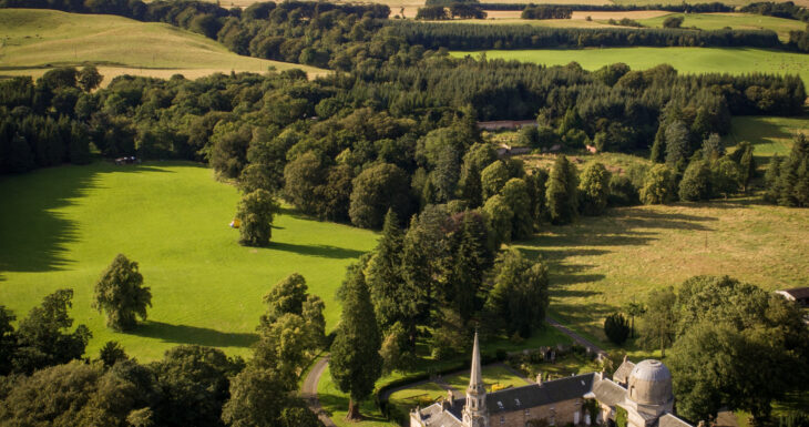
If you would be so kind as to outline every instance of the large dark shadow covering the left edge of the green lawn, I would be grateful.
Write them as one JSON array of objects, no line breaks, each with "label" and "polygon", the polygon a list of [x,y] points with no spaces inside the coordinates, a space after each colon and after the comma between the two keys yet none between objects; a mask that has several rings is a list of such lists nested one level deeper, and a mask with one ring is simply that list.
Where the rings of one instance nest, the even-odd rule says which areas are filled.
[{"label": "large dark shadow covering the left edge of the green lawn", "polygon": [[[80,238],[75,221],[58,212],[99,187],[103,173],[171,172],[150,165],[96,162],[0,177],[0,272],[49,272],[70,265],[66,246]],[[0,281],[4,275],[0,274]]]}]

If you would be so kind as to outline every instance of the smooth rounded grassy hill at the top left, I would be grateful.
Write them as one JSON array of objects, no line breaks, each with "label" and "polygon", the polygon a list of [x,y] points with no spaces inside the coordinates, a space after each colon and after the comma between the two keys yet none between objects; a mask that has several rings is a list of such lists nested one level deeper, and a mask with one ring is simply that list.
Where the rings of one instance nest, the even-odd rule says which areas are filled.
[{"label": "smooth rounded grassy hill at the top left", "polygon": [[0,10],[0,74],[40,75],[58,65],[93,63],[106,77],[120,74],[197,78],[214,72],[266,72],[314,67],[242,57],[202,34],[166,23],[140,22],[107,14],[54,10]]}]

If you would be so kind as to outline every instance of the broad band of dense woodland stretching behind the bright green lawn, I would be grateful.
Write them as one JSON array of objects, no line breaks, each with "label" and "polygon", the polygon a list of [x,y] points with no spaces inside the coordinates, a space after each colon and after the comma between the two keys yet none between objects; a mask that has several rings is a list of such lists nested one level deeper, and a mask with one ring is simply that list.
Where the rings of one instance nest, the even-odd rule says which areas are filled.
[{"label": "broad band of dense woodland stretching behind the bright green lawn", "polygon": [[[539,126],[521,135],[536,150],[595,145],[637,152],[655,141],[656,161],[670,150],[680,153],[672,164],[680,164],[709,134],[727,132],[731,114],[795,114],[806,98],[797,77],[682,77],[667,65],[633,71],[624,64],[588,72],[575,64],[438,54],[419,63],[317,81],[300,71],[195,81],[121,77],[94,92],[76,89],[70,79],[53,83],[75,70],[50,71],[35,84],[30,78],[10,80],[0,85],[0,109],[11,112],[0,132],[0,152],[8,153],[3,171],[38,165],[32,160],[49,153],[49,143],[59,156],[39,165],[64,161],[57,150],[63,140],[29,134],[49,128],[27,124],[61,121],[85,135],[68,140],[83,142],[82,153],[92,144],[104,156],[206,161],[245,194],[266,191],[239,209],[243,233],[257,231],[248,217],[259,217],[249,215],[249,206],[265,206],[259,222],[272,221],[278,195],[317,217],[379,228],[389,207],[407,218],[431,203],[458,200],[478,207],[487,201],[491,193],[483,196],[479,177],[464,175],[473,164],[477,174],[493,163],[491,146],[475,149],[485,162],[465,160],[483,142],[480,119],[536,118]],[[54,101],[62,96],[52,94],[62,92],[76,96]],[[41,101],[43,94],[52,96],[50,104]],[[30,113],[34,108],[43,115]],[[685,131],[667,131],[670,126]],[[667,132],[685,135],[685,142],[672,136],[677,142],[664,144]],[[685,149],[675,150],[680,143]],[[508,177],[525,175],[521,166],[509,167],[516,172]],[[243,240],[266,243],[268,233]]]}]

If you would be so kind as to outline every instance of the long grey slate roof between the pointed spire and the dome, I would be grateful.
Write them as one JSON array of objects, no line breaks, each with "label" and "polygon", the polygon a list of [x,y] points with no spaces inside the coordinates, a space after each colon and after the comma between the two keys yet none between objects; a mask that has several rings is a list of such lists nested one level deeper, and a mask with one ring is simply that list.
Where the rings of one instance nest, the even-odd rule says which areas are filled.
[{"label": "long grey slate roof between the pointed spire and the dome", "polygon": [[[528,386],[506,388],[487,394],[487,409],[489,414],[511,413],[559,401],[575,399],[584,396],[593,388],[595,374],[576,375],[531,384]],[[452,405],[452,411],[461,417],[464,399],[458,399]]]}]

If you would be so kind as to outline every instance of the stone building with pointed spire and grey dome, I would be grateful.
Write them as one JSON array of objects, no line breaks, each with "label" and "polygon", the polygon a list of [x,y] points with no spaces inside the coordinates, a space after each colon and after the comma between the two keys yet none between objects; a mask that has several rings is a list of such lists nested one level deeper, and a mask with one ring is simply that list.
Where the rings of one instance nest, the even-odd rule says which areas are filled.
[{"label": "stone building with pointed spire and grey dome", "polygon": [[[613,425],[619,411],[627,427],[692,427],[674,411],[672,374],[659,360],[635,365],[624,358],[612,379],[602,373],[575,375],[487,393],[478,335],[467,397],[448,398],[410,413],[410,427],[530,427]],[[595,419],[593,419],[593,416]]]}]

